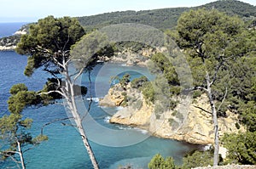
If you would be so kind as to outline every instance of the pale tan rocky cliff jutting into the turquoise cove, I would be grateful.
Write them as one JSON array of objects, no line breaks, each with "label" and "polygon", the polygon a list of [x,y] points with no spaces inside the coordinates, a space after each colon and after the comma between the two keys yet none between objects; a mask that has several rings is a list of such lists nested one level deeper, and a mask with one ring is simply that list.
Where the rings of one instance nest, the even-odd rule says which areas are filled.
[{"label": "pale tan rocky cliff jutting into the turquoise cove", "polygon": [[[112,116],[112,123],[141,127],[160,138],[172,138],[191,144],[213,144],[212,115],[209,113],[207,95],[203,94],[198,99],[191,99],[187,95],[177,100],[179,104],[175,110],[155,115],[154,105],[148,104],[139,90],[128,87],[124,91],[119,86],[114,86],[100,104],[120,106],[124,102],[128,103],[128,106]],[[224,132],[239,131],[236,128],[236,123],[239,122],[237,115],[229,111],[227,115],[227,118],[218,118],[220,136],[224,135]],[[244,128],[241,127],[240,130],[243,131]]]}]

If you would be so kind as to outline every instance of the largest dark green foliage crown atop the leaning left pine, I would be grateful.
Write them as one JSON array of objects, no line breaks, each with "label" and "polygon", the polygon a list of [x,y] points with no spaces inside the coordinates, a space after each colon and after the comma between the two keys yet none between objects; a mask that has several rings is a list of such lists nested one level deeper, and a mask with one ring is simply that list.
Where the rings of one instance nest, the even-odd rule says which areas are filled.
[{"label": "largest dark green foliage crown atop the leaning left pine", "polygon": [[21,37],[16,48],[18,54],[30,56],[25,75],[31,76],[33,70],[39,67],[50,73],[60,73],[63,68],[57,62],[62,62],[70,56],[72,45],[83,35],[84,29],[79,21],[70,17],[55,19],[48,16],[38,20],[36,25],[30,25],[29,34]]}]

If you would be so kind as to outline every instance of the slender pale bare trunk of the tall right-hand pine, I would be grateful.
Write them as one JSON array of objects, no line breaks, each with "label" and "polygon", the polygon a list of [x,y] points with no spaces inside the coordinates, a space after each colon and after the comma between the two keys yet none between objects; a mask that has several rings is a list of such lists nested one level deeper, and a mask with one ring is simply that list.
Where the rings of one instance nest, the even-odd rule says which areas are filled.
[{"label": "slender pale bare trunk of the tall right-hand pine", "polygon": [[212,88],[209,75],[207,73],[207,95],[211,105],[212,120],[214,125],[214,155],[213,155],[213,166],[218,166],[218,117],[215,103],[212,99]]}]

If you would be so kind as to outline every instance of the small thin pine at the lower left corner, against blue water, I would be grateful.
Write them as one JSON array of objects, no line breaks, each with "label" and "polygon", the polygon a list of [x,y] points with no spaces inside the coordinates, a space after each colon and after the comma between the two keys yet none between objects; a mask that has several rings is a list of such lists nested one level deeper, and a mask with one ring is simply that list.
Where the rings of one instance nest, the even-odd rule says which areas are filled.
[{"label": "small thin pine at the lower left corner, against blue water", "polygon": [[[47,136],[42,134],[32,138],[28,129],[32,126],[32,119],[22,118],[21,111],[27,104],[38,104],[38,97],[34,92],[28,92],[24,84],[14,85],[9,93],[10,115],[3,115],[0,118],[0,139],[3,146],[0,147],[0,155],[3,160],[11,158],[20,168],[26,168],[24,152],[32,149],[33,146],[47,140]],[[36,100],[36,101],[35,101]],[[20,160],[16,160],[19,155]]]}]

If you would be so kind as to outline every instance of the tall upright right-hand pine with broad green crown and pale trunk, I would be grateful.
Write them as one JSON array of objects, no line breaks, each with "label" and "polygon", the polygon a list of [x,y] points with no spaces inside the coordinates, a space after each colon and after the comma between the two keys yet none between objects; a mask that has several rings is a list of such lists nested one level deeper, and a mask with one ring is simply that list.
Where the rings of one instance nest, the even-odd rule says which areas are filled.
[{"label": "tall upright right-hand pine with broad green crown and pale trunk", "polygon": [[[198,9],[185,12],[177,21],[178,46],[186,50],[192,76],[195,79],[194,89],[207,93],[211,105],[214,125],[214,161],[218,166],[218,108],[214,93],[218,91],[218,80],[224,72],[230,70],[231,62],[246,54],[245,26],[237,17],[230,17],[218,10]],[[226,82],[229,77],[226,77]],[[228,87],[223,83],[222,100],[225,99]],[[215,90],[214,90],[215,89]]]}]

